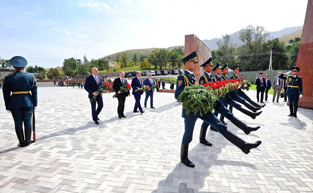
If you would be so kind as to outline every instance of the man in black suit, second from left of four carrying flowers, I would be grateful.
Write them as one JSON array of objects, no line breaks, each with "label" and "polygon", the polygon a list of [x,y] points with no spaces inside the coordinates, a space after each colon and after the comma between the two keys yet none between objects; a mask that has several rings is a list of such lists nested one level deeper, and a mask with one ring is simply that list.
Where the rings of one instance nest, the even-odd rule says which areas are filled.
[{"label": "man in black suit, second from left of four carrying flowers", "polygon": [[117,106],[117,114],[118,114],[118,118],[121,119],[122,117],[126,117],[124,115],[124,106],[125,106],[125,99],[127,96],[130,96],[131,94],[129,93],[129,91],[125,92],[125,93],[121,93],[120,88],[124,85],[127,84],[127,79],[125,79],[125,73],[123,71],[121,71],[119,73],[119,77],[114,79],[113,82],[113,90],[115,91],[116,98],[118,100],[118,106]]}]

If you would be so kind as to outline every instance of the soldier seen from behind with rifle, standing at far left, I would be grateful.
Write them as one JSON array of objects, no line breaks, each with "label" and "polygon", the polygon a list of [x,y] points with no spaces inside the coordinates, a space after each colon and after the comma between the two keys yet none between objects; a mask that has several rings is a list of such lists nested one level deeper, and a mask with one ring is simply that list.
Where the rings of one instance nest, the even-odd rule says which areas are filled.
[{"label": "soldier seen from behind with rifle, standing at far left", "polygon": [[25,58],[14,56],[11,58],[10,64],[13,66],[15,73],[4,77],[3,99],[6,110],[12,113],[14,119],[15,132],[19,141],[18,146],[24,147],[33,143],[30,138],[32,135],[32,113],[37,107],[37,85],[33,76],[23,72],[27,65]]}]

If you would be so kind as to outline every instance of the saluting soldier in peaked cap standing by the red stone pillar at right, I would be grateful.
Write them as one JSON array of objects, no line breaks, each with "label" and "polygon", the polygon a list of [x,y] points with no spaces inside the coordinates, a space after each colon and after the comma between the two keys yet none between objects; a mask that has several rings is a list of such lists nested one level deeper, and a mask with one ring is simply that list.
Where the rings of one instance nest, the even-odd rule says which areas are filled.
[{"label": "saluting soldier in peaked cap standing by the red stone pillar at right", "polygon": [[[280,74],[278,78],[284,79],[288,83],[288,88],[286,91],[288,101],[289,101],[289,110],[290,114],[288,116],[297,117],[298,102],[299,97],[302,98],[302,77],[298,76],[297,73],[300,71],[298,66],[293,66],[290,68],[290,71],[285,74]],[[284,76],[291,72],[291,76]]]}]

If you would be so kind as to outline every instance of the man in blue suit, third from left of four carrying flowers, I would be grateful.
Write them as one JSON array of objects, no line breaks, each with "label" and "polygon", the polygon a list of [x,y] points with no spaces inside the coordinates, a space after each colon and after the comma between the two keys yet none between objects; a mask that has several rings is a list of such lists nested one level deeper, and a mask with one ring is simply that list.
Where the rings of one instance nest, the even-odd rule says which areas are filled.
[{"label": "man in blue suit, third from left of four carrying flowers", "polygon": [[[136,103],[135,103],[135,106],[134,106],[134,113],[139,113],[139,111],[137,111],[137,109],[139,108],[140,113],[143,114],[144,111],[142,110],[141,104],[140,104],[141,94],[143,94],[143,90],[140,89],[141,86],[142,86],[140,77],[141,77],[141,72],[137,71],[136,72],[136,77],[134,77],[131,80],[131,88],[133,88],[133,92],[131,94],[134,95],[135,100],[136,100]],[[138,91],[135,92],[136,90],[138,90]]]}]

